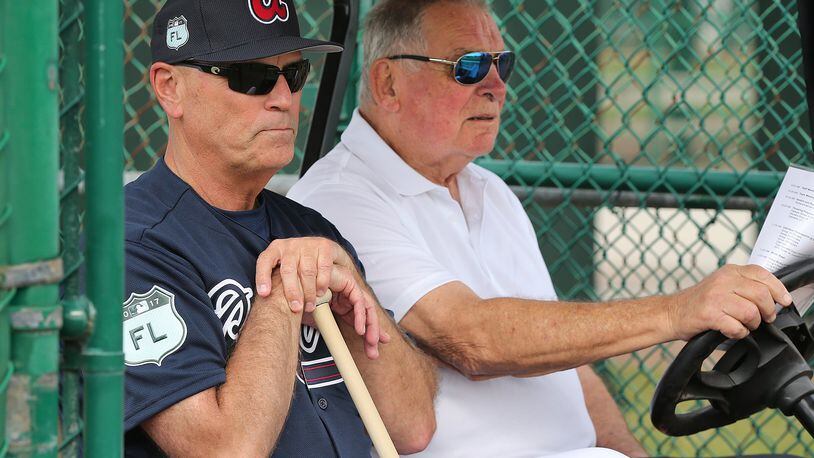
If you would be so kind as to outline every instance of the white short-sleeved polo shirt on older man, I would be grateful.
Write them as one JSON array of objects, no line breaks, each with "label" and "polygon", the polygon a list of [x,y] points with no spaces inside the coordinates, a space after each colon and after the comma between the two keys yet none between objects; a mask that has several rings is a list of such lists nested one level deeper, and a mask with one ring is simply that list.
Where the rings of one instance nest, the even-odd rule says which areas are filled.
[{"label": "white short-sleeved polo shirt on older man", "polygon": [[[460,205],[357,110],[341,143],[288,197],[321,212],[353,244],[396,320],[451,281],[481,298],[556,299],[531,222],[509,187],[474,164],[458,175],[458,187]],[[574,370],[481,382],[440,372],[438,426],[423,455],[541,456],[596,442]]]}]

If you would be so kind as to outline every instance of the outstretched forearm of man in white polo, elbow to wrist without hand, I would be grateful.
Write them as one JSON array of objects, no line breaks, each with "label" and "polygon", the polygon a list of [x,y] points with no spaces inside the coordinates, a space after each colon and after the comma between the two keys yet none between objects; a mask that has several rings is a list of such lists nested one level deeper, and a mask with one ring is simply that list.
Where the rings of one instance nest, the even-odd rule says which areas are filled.
[{"label": "outstretched forearm of man in white polo, elbow to wrist without hand", "polygon": [[472,378],[544,375],[674,338],[664,327],[663,297],[602,304],[482,300],[460,283],[443,288],[401,324]]}]

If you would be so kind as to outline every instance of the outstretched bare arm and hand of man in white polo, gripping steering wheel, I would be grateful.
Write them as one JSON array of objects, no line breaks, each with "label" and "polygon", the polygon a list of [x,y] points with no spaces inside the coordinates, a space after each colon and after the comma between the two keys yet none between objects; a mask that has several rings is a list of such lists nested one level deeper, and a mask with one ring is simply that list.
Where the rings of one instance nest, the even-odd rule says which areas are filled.
[{"label": "outstretched bare arm and hand of man in white polo, gripping steering wheel", "polygon": [[422,346],[467,376],[578,367],[713,329],[743,338],[791,296],[759,266],[726,265],[669,296],[599,304],[481,299],[462,282],[425,294],[401,320]]}]

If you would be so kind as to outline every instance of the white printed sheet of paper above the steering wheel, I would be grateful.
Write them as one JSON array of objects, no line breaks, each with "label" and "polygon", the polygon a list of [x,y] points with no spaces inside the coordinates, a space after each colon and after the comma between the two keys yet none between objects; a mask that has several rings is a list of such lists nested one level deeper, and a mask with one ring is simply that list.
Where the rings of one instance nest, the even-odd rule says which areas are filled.
[{"label": "white printed sheet of paper above the steering wheel", "polygon": [[[769,209],[749,263],[776,272],[810,258],[814,258],[814,171],[792,166]],[[804,302],[795,301],[801,315],[811,305],[811,301]]]}]

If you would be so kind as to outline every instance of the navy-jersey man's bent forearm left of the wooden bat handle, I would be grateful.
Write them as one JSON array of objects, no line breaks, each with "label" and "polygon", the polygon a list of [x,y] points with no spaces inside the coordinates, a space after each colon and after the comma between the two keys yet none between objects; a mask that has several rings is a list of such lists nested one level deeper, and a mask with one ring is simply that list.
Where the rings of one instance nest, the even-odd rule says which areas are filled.
[{"label": "navy-jersey man's bent forearm left of the wooden bat handle", "polygon": [[226,365],[226,382],[142,427],[171,456],[268,456],[291,403],[300,321],[282,293],[257,298]]}]

